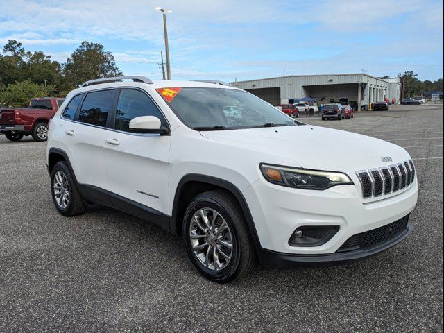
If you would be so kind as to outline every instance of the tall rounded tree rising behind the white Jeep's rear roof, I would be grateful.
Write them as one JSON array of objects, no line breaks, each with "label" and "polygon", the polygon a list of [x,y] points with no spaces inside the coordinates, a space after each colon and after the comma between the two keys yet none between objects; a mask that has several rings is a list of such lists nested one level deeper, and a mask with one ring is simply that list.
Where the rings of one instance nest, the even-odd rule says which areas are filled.
[{"label": "tall rounded tree rising behind the white Jeep's rear roof", "polygon": [[102,44],[82,42],[63,66],[69,87],[78,87],[87,80],[123,75],[116,66],[114,56]]}]

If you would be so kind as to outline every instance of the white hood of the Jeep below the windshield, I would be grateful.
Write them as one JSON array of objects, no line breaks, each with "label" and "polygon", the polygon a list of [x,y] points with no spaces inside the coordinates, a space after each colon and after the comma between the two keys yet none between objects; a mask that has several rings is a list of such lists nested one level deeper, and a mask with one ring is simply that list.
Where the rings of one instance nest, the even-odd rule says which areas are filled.
[{"label": "white hood of the Jeep below the windshield", "polygon": [[400,146],[374,137],[318,126],[282,126],[201,132],[203,137],[256,153],[265,163],[306,169],[355,171],[383,167],[408,160]]}]

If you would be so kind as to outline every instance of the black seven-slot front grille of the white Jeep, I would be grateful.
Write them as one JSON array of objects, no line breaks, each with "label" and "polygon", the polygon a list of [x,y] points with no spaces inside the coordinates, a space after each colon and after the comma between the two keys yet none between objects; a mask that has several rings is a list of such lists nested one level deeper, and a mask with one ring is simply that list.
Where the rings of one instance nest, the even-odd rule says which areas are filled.
[{"label": "black seven-slot front grille of the white Jeep", "polygon": [[415,180],[415,166],[411,160],[368,171],[358,171],[364,199],[391,194],[405,189]]}]

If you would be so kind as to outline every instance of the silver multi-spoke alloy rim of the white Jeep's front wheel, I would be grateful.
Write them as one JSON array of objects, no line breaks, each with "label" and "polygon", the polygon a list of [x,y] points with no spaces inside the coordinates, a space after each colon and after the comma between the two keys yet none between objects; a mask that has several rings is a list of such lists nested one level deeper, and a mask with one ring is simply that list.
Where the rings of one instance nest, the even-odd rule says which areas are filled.
[{"label": "silver multi-spoke alloy rim of the white Jeep's front wheel", "polygon": [[195,257],[206,268],[220,271],[230,263],[232,231],[221,214],[212,208],[201,208],[194,213],[189,225],[189,239]]}]

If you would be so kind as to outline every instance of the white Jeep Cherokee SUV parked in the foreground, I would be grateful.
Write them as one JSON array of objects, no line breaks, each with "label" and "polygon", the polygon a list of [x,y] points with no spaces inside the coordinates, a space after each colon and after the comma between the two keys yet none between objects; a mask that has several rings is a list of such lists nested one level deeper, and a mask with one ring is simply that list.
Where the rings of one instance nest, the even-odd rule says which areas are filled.
[{"label": "white Jeep Cherokee SUV parked in the foreground", "polygon": [[[232,105],[241,117],[226,117]],[[217,282],[256,258],[298,266],[375,255],[413,230],[418,196],[403,148],[305,125],[219,83],[89,81],[51,120],[46,162],[60,214],[100,203],[157,223]]]}]

